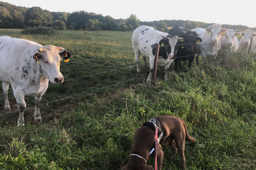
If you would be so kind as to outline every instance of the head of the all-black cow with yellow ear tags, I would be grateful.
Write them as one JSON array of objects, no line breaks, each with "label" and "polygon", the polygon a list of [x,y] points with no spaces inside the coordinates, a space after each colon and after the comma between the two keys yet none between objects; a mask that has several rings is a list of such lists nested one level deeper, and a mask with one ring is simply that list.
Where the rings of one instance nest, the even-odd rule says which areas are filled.
[{"label": "head of the all-black cow with yellow ear tags", "polygon": [[202,42],[202,39],[198,36],[200,36],[200,34],[197,34],[194,31],[187,31],[184,32],[183,35],[179,36],[184,38],[184,44],[186,44],[184,47],[186,55],[190,55],[193,51],[195,52],[197,42]]}]

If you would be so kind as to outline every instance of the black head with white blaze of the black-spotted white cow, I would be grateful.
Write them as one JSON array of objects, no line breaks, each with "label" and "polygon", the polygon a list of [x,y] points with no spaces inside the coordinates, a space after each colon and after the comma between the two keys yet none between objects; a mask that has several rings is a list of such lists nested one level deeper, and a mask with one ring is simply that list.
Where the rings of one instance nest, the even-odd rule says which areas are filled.
[{"label": "black head with white blaze of the black-spotted white cow", "polygon": [[180,38],[178,36],[170,36],[170,35],[163,37],[161,41],[164,42],[164,44],[166,44],[165,49],[166,49],[166,54],[168,58],[171,59],[174,57],[174,55],[176,55],[178,51],[178,47],[175,45],[177,44],[177,42],[182,43],[181,40],[184,40],[184,38]]}]

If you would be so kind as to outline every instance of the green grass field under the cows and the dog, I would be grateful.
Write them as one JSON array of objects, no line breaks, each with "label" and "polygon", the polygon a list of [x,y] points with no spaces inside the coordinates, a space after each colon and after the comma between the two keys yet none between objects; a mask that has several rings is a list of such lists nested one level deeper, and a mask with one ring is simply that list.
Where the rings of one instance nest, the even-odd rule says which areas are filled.
[{"label": "green grass field under the cows and the dog", "polygon": [[[130,52],[61,65],[64,80],[135,65],[131,34],[62,31],[50,37],[0,30],[1,36],[61,46],[71,53],[69,62]],[[44,105],[42,124],[35,124],[34,109],[27,109],[25,129],[15,127],[18,113],[0,116],[0,168],[121,169],[128,162],[136,129],[154,116],[175,115],[196,138],[185,146],[187,169],[256,169],[256,56],[223,51],[218,57],[214,62],[200,59],[198,67],[193,62],[192,68],[176,72],[173,63],[170,80],[158,73],[152,84],[146,83],[149,68],[141,65],[141,74],[128,67],[49,85],[42,103],[146,75]],[[34,106],[33,97],[25,100],[27,107]],[[17,110],[11,93],[9,101],[12,111]],[[1,114],[6,113],[3,103],[0,95]],[[169,146],[163,151],[162,169],[179,169],[179,154],[174,156]],[[153,166],[153,161],[148,164]]]}]

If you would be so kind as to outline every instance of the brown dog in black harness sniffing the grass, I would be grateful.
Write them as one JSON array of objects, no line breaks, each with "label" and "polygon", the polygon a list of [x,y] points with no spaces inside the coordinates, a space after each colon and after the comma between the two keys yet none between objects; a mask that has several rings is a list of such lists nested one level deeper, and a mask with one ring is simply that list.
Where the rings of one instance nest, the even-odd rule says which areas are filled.
[{"label": "brown dog in black harness sniffing the grass", "polygon": [[[157,119],[163,130],[162,145],[169,144],[176,155],[177,150],[181,156],[182,169],[186,169],[185,166],[185,139],[189,142],[195,142],[196,139],[188,134],[187,126],[181,118],[176,116],[157,116],[153,119]],[[175,142],[174,142],[175,141]],[[147,165],[147,161],[151,157],[155,157],[155,152],[150,155],[152,146],[155,143],[155,132],[146,126],[141,126],[137,129],[133,138],[133,147],[129,162],[122,170],[154,170],[152,166]],[[158,144],[157,150],[157,167],[161,170],[163,154],[161,144]]]}]

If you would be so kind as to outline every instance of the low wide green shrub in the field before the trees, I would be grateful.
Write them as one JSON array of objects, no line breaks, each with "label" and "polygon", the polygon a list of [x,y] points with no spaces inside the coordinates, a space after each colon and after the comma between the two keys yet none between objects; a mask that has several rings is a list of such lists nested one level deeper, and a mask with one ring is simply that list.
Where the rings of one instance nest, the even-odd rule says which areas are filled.
[{"label": "low wide green shrub in the field before the trees", "polygon": [[59,34],[57,30],[46,26],[27,27],[21,31],[22,34],[41,34],[41,35],[56,35]]}]

